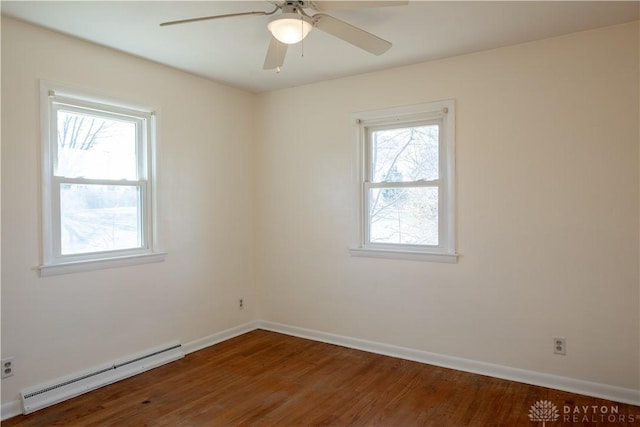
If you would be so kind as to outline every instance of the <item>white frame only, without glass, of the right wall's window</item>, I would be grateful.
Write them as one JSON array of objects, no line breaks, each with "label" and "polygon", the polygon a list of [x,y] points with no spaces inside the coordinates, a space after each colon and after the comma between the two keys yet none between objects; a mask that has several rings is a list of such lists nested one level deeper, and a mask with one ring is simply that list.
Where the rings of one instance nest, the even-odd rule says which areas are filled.
[{"label": "white frame only, without glass, of the right wall's window", "polygon": [[[452,99],[419,105],[365,111],[353,115],[356,124],[357,205],[354,209],[353,256],[410,259],[455,263],[458,260],[455,237],[455,101]],[[432,181],[404,183],[372,183],[369,135],[385,127],[419,126],[437,123],[439,132],[439,173]],[[376,243],[369,240],[369,200],[371,188],[385,187],[438,188],[438,245]]]}]

